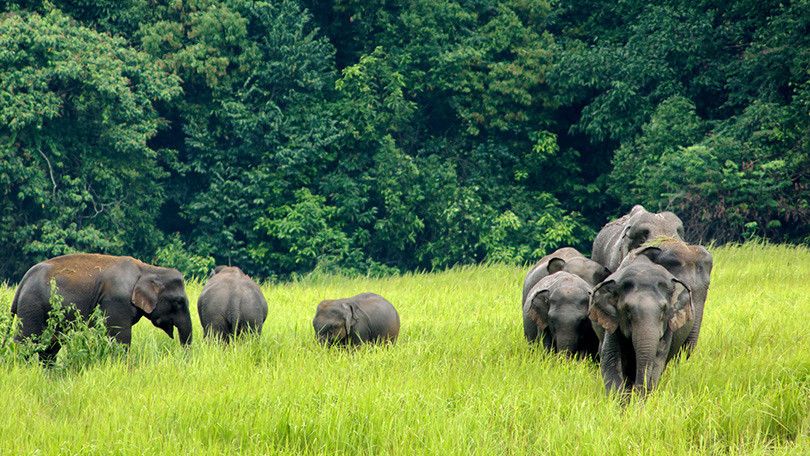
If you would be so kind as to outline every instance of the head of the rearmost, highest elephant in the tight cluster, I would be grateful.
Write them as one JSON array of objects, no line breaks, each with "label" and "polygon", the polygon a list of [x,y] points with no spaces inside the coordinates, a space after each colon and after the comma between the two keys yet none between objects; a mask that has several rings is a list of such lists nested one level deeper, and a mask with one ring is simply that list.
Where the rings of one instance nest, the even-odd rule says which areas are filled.
[{"label": "head of the rearmost, highest elephant in the tight cluster", "polygon": [[652,213],[637,204],[630,210],[621,234],[620,251],[624,258],[631,250],[650,239],[671,237],[683,240],[683,222],[672,212]]}]

